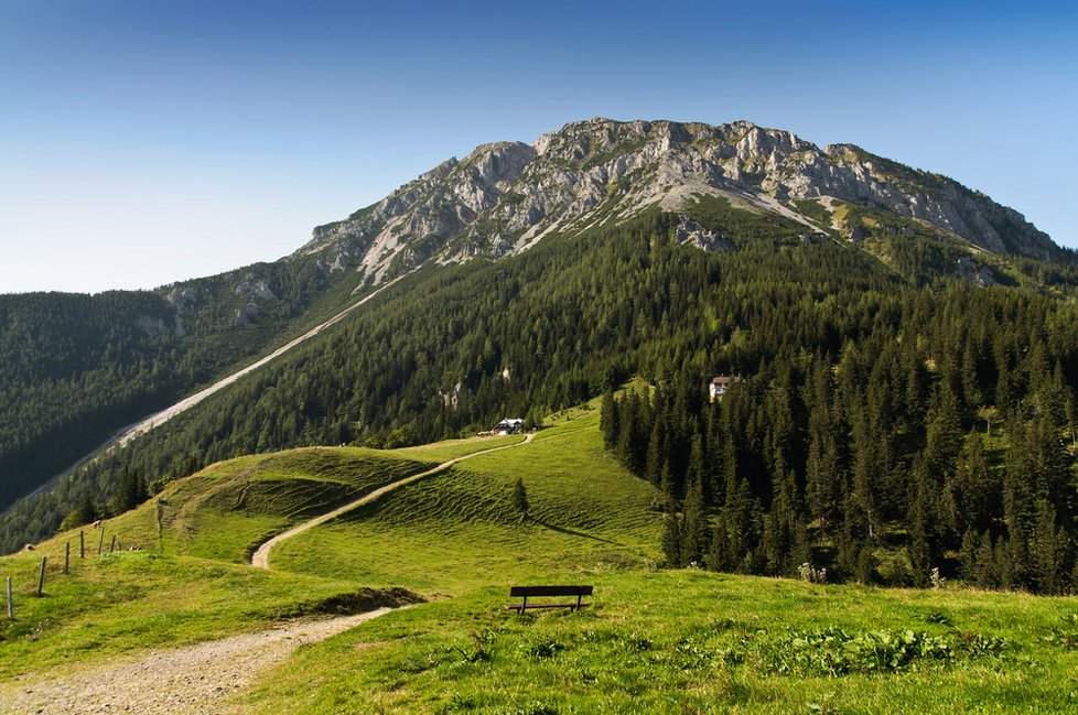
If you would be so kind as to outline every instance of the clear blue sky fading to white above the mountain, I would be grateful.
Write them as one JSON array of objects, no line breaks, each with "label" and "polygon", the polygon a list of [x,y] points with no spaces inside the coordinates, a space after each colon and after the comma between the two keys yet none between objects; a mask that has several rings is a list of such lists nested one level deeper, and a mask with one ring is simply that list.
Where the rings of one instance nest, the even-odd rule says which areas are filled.
[{"label": "clear blue sky fading to white above the mountain", "polygon": [[0,0],[0,293],[274,260],[449,156],[748,119],[1078,247],[1071,2]]}]

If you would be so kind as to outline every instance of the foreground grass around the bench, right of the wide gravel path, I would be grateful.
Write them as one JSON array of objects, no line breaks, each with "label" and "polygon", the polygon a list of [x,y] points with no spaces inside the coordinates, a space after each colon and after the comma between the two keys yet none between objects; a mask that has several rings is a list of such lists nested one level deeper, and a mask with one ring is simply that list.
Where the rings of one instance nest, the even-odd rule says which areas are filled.
[{"label": "foreground grass around the bench, right of the wide gravel path", "polygon": [[[552,573],[551,581],[574,577]],[[575,575],[580,614],[518,617],[504,587],[304,649],[251,713],[1063,713],[1078,603],[699,571]],[[1068,646],[1068,643],[1070,643]],[[316,682],[316,687],[311,683]]]}]

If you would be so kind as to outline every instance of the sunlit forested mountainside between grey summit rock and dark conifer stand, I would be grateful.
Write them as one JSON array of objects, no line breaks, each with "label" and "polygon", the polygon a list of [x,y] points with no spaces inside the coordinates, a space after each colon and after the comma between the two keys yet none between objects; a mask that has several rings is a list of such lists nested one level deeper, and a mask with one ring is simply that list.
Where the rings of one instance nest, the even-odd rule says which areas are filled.
[{"label": "sunlit forested mountainside between grey summit rock and dark conifer stand", "polygon": [[[1066,413],[1078,379],[1076,312],[1049,293],[1072,291],[1072,269],[1050,267],[1049,290],[1031,278],[1030,266],[1039,264],[993,259],[985,266],[1011,285],[982,288],[955,268],[955,257],[966,253],[916,231],[871,237],[870,252],[864,243],[808,237],[793,221],[722,203],[698,203],[689,214],[722,230],[733,250],[680,243],[681,217],[653,209],[616,227],[547,238],[497,262],[422,269],[317,340],[9,516],[3,543],[10,548],[15,534],[26,533],[30,513],[44,533],[87,488],[103,502],[125,465],[152,483],[242,453],[455,436],[503,416],[538,418],[633,375],[691,384],[699,401],[718,373],[759,376],[762,386],[777,380],[794,391],[805,376],[840,370],[842,360],[859,360],[870,376],[877,365],[902,366],[894,373],[912,371],[919,381],[909,389],[923,394],[892,404],[891,392],[873,388],[876,402],[892,404],[886,421],[862,424],[861,413],[843,413],[834,420],[844,422],[813,423],[817,431],[871,430],[859,435],[865,442],[894,429],[880,443],[884,452],[862,461],[891,475],[886,488],[899,491],[927,438],[924,426],[910,425],[936,414],[941,376],[952,380],[948,360],[975,375],[969,387],[950,390],[960,400],[959,437],[983,429],[979,409],[995,409],[999,420],[1007,416],[1004,405],[1026,404],[1043,375],[1058,390],[1053,414]],[[1031,353],[1045,366],[1036,377]],[[887,389],[895,392],[893,381]],[[1010,390],[1002,403],[1000,384]],[[758,404],[769,393],[759,387],[750,394]],[[790,444],[781,458],[804,480],[810,444],[800,436],[809,433],[801,400],[790,402],[790,434],[783,437]],[[687,404],[682,412],[689,419],[700,409]],[[643,436],[644,448],[649,437]],[[901,448],[891,448],[893,442]],[[774,446],[745,444],[753,446],[739,448],[757,455],[743,459],[746,469],[774,467]],[[957,454],[961,444],[951,440],[946,451]],[[682,494],[683,487],[671,491]]]}]

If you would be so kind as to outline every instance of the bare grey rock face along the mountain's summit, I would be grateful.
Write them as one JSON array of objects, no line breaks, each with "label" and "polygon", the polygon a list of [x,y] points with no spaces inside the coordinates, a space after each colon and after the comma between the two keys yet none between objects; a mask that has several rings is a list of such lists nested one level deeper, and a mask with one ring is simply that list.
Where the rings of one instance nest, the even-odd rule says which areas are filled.
[{"label": "bare grey rock face along the mountain's summit", "polygon": [[[747,121],[591,119],[533,144],[484,144],[451,159],[347,219],[319,226],[298,253],[381,282],[430,260],[517,253],[552,232],[616,223],[654,205],[678,212],[708,194],[797,220],[807,234],[861,238],[864,227],[843,220],[854,207],[930,225],[995,253],[1052,260],[1060,250],[983,194],[851,144],[820,149]],[[731,247],[686,221],[679,238],[707,250]]]}]

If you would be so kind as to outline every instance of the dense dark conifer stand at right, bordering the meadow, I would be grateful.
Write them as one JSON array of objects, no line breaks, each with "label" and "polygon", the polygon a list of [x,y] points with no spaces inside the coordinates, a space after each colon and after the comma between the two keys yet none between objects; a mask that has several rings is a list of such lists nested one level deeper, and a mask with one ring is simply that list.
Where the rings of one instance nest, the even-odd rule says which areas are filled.
[{"label": "dense dark conifer stand at right, bordering the meadow", "polygon": [[[669,564],[1072,591],[1072,308],[958,284],[869,300],[836,350],[795,337],[813,321],[794,305],[756,365],[605,394],[607,447],[667,500]],[[712,402],[711,372],[743,380]]]}]

